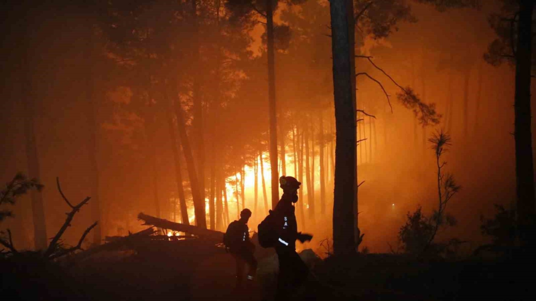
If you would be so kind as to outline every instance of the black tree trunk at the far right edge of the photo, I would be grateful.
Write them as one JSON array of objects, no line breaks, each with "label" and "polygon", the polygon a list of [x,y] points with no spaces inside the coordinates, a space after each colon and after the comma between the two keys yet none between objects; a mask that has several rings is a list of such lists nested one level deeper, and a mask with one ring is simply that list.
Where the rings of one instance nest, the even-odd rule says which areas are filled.
[{"label": "black tree trunk at the far right edge of the photo", "polygon": [[514,138],[516,146],[516,192],[520,242],[534,242],[528,225],[534,219],[534,166],[531,134],[532,0],[519,0],[516,47],[516,92]]}]

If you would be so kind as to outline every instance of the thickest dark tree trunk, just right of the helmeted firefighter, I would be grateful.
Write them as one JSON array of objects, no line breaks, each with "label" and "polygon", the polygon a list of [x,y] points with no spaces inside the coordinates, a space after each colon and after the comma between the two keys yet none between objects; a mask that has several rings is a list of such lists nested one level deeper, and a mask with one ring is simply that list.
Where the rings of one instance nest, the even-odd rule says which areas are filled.
[{"label": "thickest dark tree trunk, just right of the helmeted firefighter", "polygon": [[[333,193],[333,252],[355,252],[357,213],[356,103],[352,77],[353,2],[331,0],[333,96],[336,121],[335,187]],[[354,90],[354,91],[353,91]],[[355,214],[354,214],[355,212]]]}]

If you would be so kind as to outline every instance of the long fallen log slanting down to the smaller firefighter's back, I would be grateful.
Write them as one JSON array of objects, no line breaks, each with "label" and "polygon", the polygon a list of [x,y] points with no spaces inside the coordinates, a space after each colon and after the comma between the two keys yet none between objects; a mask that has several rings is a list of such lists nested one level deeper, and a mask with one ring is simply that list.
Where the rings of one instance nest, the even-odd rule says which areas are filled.
[{"label": "long fallen log slanting down to the smaller firefighter's back", "polygon": [[158,228],[173,230],[178,232],[185,232],[188,234],[196,235],[200,239],[206,242],[219,244],[224,238],[224,232],[209,230],[197,227],[195,225],[187,225],[182,223],[175,223],[165,219],[159,219],[151,215],[144,214],[143,212],[138,214],[138,220],[143,221],[144,225],[153,225]]}]

